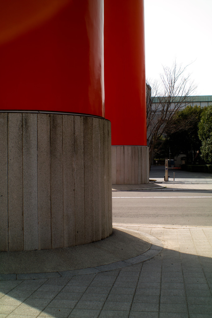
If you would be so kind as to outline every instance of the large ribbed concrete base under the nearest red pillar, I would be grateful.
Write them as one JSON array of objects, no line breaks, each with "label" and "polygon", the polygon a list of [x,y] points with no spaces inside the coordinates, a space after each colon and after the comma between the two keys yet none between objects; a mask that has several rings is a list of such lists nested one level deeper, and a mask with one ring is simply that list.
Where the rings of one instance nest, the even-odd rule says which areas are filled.
[{"label": "large ribbed concrete base under the nearest red pillar", "polygon": [[0,112],[0,251],[98,241],[112,233],[110,121]]}]

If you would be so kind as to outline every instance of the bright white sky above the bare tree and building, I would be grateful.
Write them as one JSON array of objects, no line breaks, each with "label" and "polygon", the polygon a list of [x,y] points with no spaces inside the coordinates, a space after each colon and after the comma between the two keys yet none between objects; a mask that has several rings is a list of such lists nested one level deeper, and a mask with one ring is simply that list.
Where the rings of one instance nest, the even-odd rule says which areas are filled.
[{"label": "bright white sky above the bare tree and building", "polygon": [[212,95],[212,0],[144,0],[146,78],[188,67],[195,95]]}]

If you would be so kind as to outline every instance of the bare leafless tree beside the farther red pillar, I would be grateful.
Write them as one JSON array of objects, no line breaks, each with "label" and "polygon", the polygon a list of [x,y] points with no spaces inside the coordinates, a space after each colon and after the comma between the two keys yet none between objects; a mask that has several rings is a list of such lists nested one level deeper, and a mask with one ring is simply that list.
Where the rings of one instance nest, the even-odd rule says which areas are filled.
[{"label": "bare leafless tree beside the farther red pillar", "polygon": [[[190,75],[185,75],[187,66],[177,65],[175,61],[171,68],[163,67],[158,81],[147,81],[147,145],[150,168],[154,154],[159,151],[163,141],[171,133],[185,129],[193,121],[193,118],[180,124],[176,121],[176,114],[190,105],[193,101],[191,95],[196,90]],[[161,137],[163,141],[159,142]]]}]

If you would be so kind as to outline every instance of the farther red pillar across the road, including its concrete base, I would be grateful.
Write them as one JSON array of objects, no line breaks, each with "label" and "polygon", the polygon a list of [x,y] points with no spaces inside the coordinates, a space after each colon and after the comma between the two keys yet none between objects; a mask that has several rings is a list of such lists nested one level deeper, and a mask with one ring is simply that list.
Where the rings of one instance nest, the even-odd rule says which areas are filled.
[{"label": "farther red pillar across the road, including its concrete base", "polygon": [[149,183],[143,0],[104,2],[104,70],[112,183]]}]

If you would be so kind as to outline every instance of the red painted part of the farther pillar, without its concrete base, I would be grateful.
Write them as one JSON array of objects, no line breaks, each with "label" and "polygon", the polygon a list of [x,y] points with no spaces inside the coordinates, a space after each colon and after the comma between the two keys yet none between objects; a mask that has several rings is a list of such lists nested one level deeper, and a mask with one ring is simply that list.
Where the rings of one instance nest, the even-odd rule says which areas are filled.
[{"label": "red painted part of the farther pillar, without its concrete base", "polygon": [[146,146],[143,0],[104,2],[104,68],[112,145]]}]

